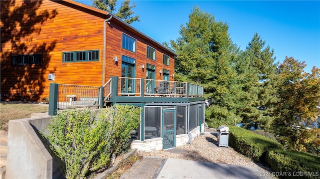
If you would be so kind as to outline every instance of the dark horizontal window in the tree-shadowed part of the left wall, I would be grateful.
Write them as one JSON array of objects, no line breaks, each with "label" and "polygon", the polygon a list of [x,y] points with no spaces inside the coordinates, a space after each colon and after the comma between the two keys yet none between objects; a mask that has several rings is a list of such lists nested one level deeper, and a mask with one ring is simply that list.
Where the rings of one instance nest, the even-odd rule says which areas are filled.
[{"label": "dark horizontal window in the tree-shadowed part of the left wall", "polygon": [[12,55],[12,65],[41,64],[42,54]]}]

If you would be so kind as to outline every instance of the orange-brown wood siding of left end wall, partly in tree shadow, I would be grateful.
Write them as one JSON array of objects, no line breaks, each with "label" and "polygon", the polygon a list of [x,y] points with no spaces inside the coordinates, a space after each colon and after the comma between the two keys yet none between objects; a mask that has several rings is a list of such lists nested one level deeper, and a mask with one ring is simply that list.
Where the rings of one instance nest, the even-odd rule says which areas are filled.
[{"label": "orange-brown wood siding of left end wall, partly in tree shadow", "polygon": [[[9,14],[7,26],[18,24],[14,29],[17,32],[12,31],[11,35],[19,35],[20,39],[8,37],[5,43],[1,40],[2,97],[5,95],[9,99],[20,100],[21,97],[25,98],[24,96],[30,94],[29,89],[35,89],[38,96],[33,100],[40,100],[41,97],[49,96],[49,83],[52,82],[102,85],[104,18],[49,0],[37,5],[31,1],[24,1],[24,6],[17,0],[14,6],[9,8],[9,12],[4,9],[6,4],[8,2],[1,1],[1,18],[2,13]],[[14,13],[13,9],[16,9]],[[36,16],[32,20],[34,12]],[[24,18],[21,18],[23,16]],[[5,25],[1,25],[1,35],[3,29],[8,28],[5,29]],[[11,41],[23,48],[14,47]],[[62,52],[84,50],[99,50],[99,61],[62,62]],[[35,53],[43,54],[42,65],[11,66],[11,54]],[[47,80],[49,73],[55,73],[55,81]]]}]

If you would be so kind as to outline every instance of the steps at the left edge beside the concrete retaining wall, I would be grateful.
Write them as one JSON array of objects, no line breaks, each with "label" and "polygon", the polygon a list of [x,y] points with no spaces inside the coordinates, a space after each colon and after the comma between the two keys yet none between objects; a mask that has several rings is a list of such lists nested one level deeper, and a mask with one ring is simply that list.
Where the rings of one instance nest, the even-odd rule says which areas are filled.
[{"label": "steps at the left edge beside the concrete retaining wall", "polygon": [[4,179],[6,154],[8,152],[8,135],[0,135],[0,179]]}]

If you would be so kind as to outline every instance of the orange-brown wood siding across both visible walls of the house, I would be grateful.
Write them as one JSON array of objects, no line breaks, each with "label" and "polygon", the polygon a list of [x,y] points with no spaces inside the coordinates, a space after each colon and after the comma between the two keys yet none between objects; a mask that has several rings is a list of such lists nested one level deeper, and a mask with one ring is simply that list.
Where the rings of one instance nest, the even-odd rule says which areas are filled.
[{"label": "orange-brown wood siding across both visible walls of the house", "polygon": [[[86,5],[67,1],[0,1],[1,6],[1,99],[40,101],[49,96],[49,83],[102,85],[103,21],[109,15]],[[2,20],[5,19],[5,20]],[[122,32],[136,39],[136,53],[121,48]],[[146,58],[146,45],[156,49],[156,60]],[[62,53],[99,50],[99,61],[62,62]],[[42,54],[42,64],[12,65],[12,55]],[[162,64],[162,54],[170,65]],[[140,65],[156,66],[156,72],[174,71],[171,52],[112,18],[106,24],[105,76],[121,75],[121,55],[136,59],[136,78],[145,78]],[[118,57],[117,65],[113,57]],[[54,73],[55,80],[48,81]],[[162,75],[156,73],[156,79]]]}]

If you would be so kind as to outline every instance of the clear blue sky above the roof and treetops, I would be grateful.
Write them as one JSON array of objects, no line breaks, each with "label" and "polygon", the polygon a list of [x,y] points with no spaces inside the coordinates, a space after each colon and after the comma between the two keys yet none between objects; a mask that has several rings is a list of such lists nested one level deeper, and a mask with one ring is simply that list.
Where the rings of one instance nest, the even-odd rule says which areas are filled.
[{"label": "clear blue sky above the roof and treetops", "polygon": [[[91,5],[89,0],[77,0]],[[285,56],[305,61],[304,70],[320,68],[320,1],[267,0],[130,0],[140,21],[131,25],[158,42],[179,37],[180,25],[188,22],[197,5],[229,25],[233,43],[244,50],[255,32],[274,50],[275,61]],[[120,5],[122,0],[118,0]]]}]

